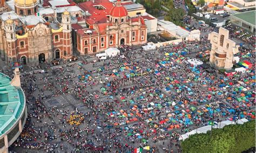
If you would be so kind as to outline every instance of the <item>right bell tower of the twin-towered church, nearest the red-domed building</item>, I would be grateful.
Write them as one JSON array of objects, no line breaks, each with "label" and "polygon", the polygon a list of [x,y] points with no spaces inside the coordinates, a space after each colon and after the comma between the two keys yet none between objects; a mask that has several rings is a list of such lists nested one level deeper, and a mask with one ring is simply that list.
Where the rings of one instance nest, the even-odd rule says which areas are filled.
[{"label": "right bell tower of the twin-towered church, nearest the red-domed building", "polygon": [[62,13],[63,27],[63,57],[68,59],[72,56],[72,39],[71,39],[71,17],[70,13],[65,10]]}]

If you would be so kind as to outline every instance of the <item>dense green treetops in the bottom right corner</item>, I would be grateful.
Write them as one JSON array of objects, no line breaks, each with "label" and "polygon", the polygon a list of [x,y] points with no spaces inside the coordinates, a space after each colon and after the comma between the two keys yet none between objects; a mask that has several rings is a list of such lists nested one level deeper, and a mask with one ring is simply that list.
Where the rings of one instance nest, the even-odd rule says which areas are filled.
[{"label": "dense green treetops in the bottom right corner", "polygon": [[255,121],[212,129],[181,142],[183,152],[242,152],[255,145]]}]

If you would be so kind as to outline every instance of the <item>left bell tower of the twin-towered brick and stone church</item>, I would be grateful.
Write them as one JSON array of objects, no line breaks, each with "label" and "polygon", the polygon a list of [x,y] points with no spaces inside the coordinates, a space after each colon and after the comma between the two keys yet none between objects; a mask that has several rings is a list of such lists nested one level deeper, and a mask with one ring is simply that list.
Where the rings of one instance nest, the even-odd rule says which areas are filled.
[{"label": "left bell tower of the twin-towered brick and stone church", "polygon": [[14,24],[14,20],[12,20],[10,16],[8,17],[8,19],[5,22],[4,30],[5,30],[5,37],[6,37],[5,38],[6,39],[6,54],[8,57],[7,61],[8,61],[8,65],[10,65],[11,62],[16,62],[18,60],[15,24]]}]

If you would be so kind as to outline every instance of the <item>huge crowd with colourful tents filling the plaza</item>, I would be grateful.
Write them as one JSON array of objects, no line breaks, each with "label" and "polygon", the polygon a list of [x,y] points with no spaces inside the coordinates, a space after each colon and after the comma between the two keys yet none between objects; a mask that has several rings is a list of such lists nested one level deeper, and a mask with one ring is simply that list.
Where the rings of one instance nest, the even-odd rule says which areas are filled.
[{"label": "huge crowd with colourful tents filling the plaza", "polygon": [[[210,46],[207,36],[157,51],[123,46],[121,55],[106,61],[23,73],[28,119],[13,146],[46,152],[150,146],[150,152],[180,152],[180,135],[212,120],[254,119],[254,66],[226,77],[186,62]],[[253,61],[254,54],[243,55],[238,54]]]}]

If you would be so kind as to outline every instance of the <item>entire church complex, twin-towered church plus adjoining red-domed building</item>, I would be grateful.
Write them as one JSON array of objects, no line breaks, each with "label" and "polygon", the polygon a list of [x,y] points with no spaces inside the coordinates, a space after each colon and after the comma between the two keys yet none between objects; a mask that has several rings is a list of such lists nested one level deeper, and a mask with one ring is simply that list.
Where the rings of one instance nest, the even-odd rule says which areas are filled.
[{"label": "entire church complex, twin-towered church plus adjoining red-domed building", "polygon": [[73,50],[96,54],[109,47],[147,43],[141,16],[129,17],[120,0],[1,0],[0,53],[7,65],[68,60]]}]

